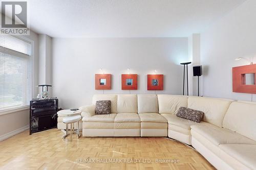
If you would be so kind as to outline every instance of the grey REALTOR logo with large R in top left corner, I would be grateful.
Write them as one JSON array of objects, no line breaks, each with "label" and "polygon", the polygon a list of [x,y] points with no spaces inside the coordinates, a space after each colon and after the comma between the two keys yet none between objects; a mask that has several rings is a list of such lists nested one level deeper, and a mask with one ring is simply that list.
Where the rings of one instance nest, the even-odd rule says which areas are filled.
[{"label": "grey REALTOR logo with large R in top left corner", "polygon": [[29,35],[27,2],[1,2],[1,34]]}]

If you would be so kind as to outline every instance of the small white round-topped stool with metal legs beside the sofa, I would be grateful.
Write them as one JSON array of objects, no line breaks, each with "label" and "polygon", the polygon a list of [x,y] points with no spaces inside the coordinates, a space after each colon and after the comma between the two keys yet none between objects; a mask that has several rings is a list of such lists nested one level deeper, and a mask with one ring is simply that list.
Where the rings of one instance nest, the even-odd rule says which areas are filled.
[{"label": "small white round-topped stool with metal legs beside the sofa", "polygon": [[[62,119],[62,122],[66,124],[66,134],[63,136],[65,141],[72,141],[72,134],[77,134],[78,138],[80,137],[79,133],[79,120],[81,120],[81,115],[67,116]],[[77,122],[77,132],[74,132],[75,123]],[[68,133],[70,124],[70,133]],[[70,139],[66,139],[66,137],[70,135]]]}]

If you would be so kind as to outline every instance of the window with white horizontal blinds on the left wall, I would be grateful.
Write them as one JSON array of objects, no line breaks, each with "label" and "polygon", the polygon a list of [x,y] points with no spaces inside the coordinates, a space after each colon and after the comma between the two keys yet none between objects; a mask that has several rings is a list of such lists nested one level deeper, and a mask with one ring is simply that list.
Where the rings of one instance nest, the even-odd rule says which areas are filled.
[{"label": "window with white horizontal blinds on the left wall", "polygon": [[32,98],[32,44],[0,36],[0,112],[29,105]]}]

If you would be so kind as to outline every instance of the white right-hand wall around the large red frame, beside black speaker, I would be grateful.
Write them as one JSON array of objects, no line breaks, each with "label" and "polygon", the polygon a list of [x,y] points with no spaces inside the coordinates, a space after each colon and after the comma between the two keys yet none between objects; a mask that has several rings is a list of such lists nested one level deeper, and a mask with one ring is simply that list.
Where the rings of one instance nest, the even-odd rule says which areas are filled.
[{"label": "white right-hand wall around the large red frame, beside black speaker", "polygon": [[248,0],[201,34],[205,96],[251,101],[251,94],[232,92],[232,67],[247,64],[237,57],[256,56],[255,9],[256,1]]}]

